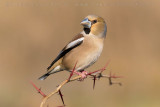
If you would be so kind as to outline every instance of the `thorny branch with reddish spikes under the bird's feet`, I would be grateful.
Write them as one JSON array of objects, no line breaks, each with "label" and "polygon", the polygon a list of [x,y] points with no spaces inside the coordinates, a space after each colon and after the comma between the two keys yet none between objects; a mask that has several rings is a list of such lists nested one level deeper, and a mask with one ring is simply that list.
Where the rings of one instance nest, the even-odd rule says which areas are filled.
[{"label": "thorny branch with reddish spikes under the bird's feet", "polygon": [[[77,64],[77,63],[76,63]],[[58,87],[53,91],[51,92],[50,94],[48,95],[45,95],[41,89],[37,88],[37,86],[31,82],[31,84],[34,86],[34,88],[43,96],[43,100],[41,102],[41,105],[40,107],[44,107],[44,104],[45,102],[47,101],[47,99],[49,99],[51,96],[53,96],[54,94],[56,93],[59,93],[60,97],[61,97],[61,100],[62,100],[62,103],[63,103],[63,106],[61,107],[65,107],[65,104],[64,104],[64,100],[63,100],[63,95],[60,91],[60,89],[66,84],[66,83],[69,83],[69,82],[72,82],[72,81],[75,81],[75,80],[80,80],[81,79],[81,76],[76,76],[76,77],[73,77],[73,74],[74,74],[74,71],[75,71],[75,67],[76,67],[76,64],[72,70],[72,72],[70,73],[70,76],[68,79],[66,79],[65,81],[63,81],[60,85],[58,85]],[[107,62],[107,64],[102,68],[102,69],[99,69],[99,70],[96,70],[96,71],[93,71],[93,72],[90,72],[87,74],[87,76],[91,76],[91,78],[93,78],[93,89],[95,88],[95,82],[97,79],[100,79],[100,78],[108,78],[109,80],[109,84],[110,85],[113,85],[113,84],[119,84],[120,86],[122,85],[120,82],[112,82],[112,78],[121,78],[121,76],[115,76],[115,75],[112,75],[111,72],[110,72],[110,75],[103,75],[102,72],[104,70],[106,70],[106,67],[108,66],[109,64],[109,61]]]}]

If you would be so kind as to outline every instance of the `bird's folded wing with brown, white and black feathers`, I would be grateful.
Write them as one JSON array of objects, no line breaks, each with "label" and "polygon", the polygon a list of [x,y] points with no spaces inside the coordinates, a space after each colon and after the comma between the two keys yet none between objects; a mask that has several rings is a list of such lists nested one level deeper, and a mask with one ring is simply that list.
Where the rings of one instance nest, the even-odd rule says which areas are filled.
[{"label": "bird's folded wing with brown, white and black feathers", "polygon": [[83,42],[84,36],[83,34],[78,34],[75,36],[72,41],[70,41],[59,53],[59,55],[55,58],[55,60],[50,64],[50,66],[47,68],[47,71],[50,70],[50,68],[59,60],[61,59],[65,54],[67,54],[72,49],[76,48]]}]

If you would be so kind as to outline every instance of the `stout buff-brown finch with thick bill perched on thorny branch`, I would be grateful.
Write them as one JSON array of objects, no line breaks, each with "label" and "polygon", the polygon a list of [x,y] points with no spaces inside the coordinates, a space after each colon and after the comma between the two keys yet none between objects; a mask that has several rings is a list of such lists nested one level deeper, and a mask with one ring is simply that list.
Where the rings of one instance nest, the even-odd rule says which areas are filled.
[{"label": "stout buff-brown finch with thick bill perched on thorny branch", "polygon": [[81,21],[82,32],[60,51],[58,56],[47,68],[47,73],[39,80],[44,80],[51,74],[60,71],[75,71],[82,78],[86,77],[86,68],[93,65],[102,53],[104,40],[106,38],[107,25],[105,20],[97,15],[88,15]]}]

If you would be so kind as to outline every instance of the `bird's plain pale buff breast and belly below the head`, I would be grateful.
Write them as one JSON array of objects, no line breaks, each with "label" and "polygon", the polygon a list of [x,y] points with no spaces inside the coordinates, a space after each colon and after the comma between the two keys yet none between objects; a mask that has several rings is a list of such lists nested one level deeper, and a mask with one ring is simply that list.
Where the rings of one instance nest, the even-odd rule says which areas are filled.
[{"label": "bird's plain pale buff breast and belly below the head", "polygon": [[84,70],[97,61],[102,49],[103,43],[95,44],[92,41],[90,44],[82,44],[64,56],[62,65],[65,70],[71,71],[77,63],[76,70]]}]

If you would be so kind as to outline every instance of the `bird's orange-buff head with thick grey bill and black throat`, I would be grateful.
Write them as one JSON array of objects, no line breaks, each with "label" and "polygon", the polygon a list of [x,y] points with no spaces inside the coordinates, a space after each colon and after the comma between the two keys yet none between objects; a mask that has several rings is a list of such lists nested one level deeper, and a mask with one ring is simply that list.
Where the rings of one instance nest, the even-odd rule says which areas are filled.
[{"label": "bird's orange-buff head with thick grey bill and black throat", "polygon": [[102,17],[96,15],[88,15],[82,22],[86,34],[92,33],[96,36],[105,37],[107,26]]}]

